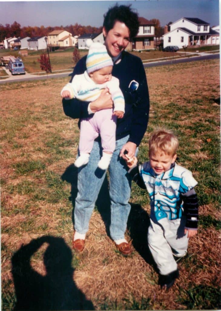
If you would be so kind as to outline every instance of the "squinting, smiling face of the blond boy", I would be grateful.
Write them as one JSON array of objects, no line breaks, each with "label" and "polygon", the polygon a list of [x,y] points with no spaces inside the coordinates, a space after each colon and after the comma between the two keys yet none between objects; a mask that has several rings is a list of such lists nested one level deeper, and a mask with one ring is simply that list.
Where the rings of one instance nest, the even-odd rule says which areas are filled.
[{"label": "squinting, smiling face of the blond boy", "polygon": [[156,174],[162,174],[170,169],[171,164],[176,160],[177,155],[167,155],[161,150],[156,153],[150,152],[150,166]]}]

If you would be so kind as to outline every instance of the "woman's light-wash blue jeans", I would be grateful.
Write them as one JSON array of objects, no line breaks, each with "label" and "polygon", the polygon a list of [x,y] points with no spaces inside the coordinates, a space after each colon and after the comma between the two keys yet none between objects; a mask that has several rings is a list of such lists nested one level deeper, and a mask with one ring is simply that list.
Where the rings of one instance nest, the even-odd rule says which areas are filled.
[{"label": "woman's light-wash blue jeans", "polygon": [[[124,238],[130,213],[128,201],[130,199],[131,179],[127,173],[125,161],[119,157],[122,146],[126,144],[128,138],[129,136],[126,136],[116,141],[115,150],[109,165],[110,235],[113,240]],[[74,208],[74,228],[82,234],[88,231],[89,220],[106,175],[106,172],[97,166],[101,155],[101,144],[95,141],[88,164],[78,170],[78,193]]]}]

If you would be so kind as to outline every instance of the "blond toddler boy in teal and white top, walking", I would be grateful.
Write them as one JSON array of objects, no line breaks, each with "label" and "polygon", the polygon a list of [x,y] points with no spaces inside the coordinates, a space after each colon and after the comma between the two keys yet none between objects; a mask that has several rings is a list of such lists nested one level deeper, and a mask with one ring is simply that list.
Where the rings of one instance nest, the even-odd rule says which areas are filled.
[{"label": "blond toddler boy in teal and white top, walking", "polygon": [[150,196],[148,246],[159,270],[158,284],[166,289],[179,277],[174,256],[185,256],[189,238],[197,234],[197,181],[175,163],[178,147],[173,132],[159,129],[149,140],[149,161],[139,166],[136,157],[127,161],[132,179]]}]

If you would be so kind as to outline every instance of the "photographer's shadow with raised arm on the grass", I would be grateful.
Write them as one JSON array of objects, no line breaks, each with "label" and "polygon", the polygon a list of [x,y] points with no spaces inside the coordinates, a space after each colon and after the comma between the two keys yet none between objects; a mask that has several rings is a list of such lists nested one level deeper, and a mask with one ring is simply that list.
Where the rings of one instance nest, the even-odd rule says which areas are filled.
[{"label": "photographer's shadow with raised arm on the grass", "polygon": [[[44,244],[46,275],[31,266],[31,256]],[[12,256],[15,310],[94,310],[91,301],[77,288],[71,267],[72,253],[63,238],[42,236],[23,245]]]}]

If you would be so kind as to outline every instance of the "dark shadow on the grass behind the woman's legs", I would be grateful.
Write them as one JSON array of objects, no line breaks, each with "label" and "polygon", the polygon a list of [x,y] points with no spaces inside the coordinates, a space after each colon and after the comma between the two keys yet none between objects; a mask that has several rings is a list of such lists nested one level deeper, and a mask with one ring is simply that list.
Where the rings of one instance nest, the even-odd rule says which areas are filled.
[{"label": "dark shadow on the grass behind the woman's legs", "polygon": [[[62,180],[66,180],[68,183],[71,184],[71,197],[69,199],[72,200],[74,213],[75,199],[77,196],[77,168],[73,164],[69,165],[61,178]],[[153,267],[156,269],[156,265],[152,259],[152,255],[150,253],[147,243],[147,231],[150,224],[150,218],[147,212],[144,211],[144,209],[141,207],[141,205],[133,203],[130,203],[130,205],[131,210],[127,221],[127,229],[130,232],[130,238],[133,240],[132,244],[136,251],[144,258],[144,260],[148,264],[153,265]],[[110,237],[109,227],[111,212],[107,176],[105,177],[102,187],[100,189],[96,201],[96,207],[101,215],[102,220],[104,221],[107,235]],[[73,213],[72,221],[74,223]]]}]

